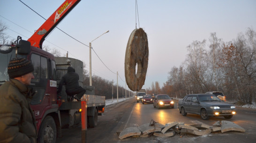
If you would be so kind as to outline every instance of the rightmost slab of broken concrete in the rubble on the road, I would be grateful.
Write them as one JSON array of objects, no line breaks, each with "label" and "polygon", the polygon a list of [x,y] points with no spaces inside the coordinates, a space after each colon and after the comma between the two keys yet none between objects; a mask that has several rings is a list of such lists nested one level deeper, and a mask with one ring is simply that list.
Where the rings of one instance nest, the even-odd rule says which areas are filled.
[{"label": "rightmost slab of broken concrete in the rubble on the road", "polygon": [[227,132],[227,131],[245,132],[245,129],[231,121],[222,120],[221,121],[221,133]]}]

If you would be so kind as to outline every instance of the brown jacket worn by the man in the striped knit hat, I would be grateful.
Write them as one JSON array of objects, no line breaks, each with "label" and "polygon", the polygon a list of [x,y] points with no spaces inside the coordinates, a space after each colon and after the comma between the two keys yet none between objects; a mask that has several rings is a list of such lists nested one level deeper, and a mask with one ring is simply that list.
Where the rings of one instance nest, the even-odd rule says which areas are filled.
[{"label": "brown jacket worn by the man in the striped knit hat", "polygon": [[28,86],[16,79],[0,87],[0,143],[37,143]]}]

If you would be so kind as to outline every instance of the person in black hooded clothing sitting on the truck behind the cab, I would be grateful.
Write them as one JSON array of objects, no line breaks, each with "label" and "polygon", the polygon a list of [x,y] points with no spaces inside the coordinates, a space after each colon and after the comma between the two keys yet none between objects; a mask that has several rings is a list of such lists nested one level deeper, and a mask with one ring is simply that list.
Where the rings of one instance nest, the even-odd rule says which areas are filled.
[{"label": "person in black hooded clothing sitting on the truck behind the cab", "polygon": [[77,101],[80,101],[80,99],[83,97],[83,94],[85,93],[85,89],[83,89],[81,86],[79,86],[78,83],[79,75],[75,73],[75,68],[68,67],[68,73],[66,75],[63,75],[58,88],[58,94],[62,90],[63,83],[66,84],[66,93],[69,96],[73,96]]}]

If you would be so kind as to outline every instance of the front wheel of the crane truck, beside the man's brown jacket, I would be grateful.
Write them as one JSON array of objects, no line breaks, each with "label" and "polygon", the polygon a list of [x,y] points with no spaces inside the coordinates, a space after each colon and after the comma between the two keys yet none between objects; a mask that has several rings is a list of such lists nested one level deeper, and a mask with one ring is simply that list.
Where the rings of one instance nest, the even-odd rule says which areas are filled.
[{"label": "front wheel of the crane truck, beside the man's brown jacket", "polygon": [[39,128],[38,143],[55,143],[56,133],[56,125],[53,117],[46,116]]}]

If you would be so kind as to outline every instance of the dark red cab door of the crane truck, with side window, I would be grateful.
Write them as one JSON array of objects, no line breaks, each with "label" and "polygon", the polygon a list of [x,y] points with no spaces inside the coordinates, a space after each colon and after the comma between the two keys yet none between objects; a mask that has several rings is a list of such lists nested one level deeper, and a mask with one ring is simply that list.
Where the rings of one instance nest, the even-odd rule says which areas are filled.
[{"label": "dark red cab door of the crane truck, with side window", "polygon": [[31,80],[31,87],[37,90],[30,105],[36,119],[39,120],[47,110],[57,105],[56,68],[53,60],[37,53],[32,53],[30,60],[35,69],[33,72],[35,78]]}]

